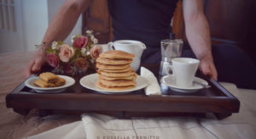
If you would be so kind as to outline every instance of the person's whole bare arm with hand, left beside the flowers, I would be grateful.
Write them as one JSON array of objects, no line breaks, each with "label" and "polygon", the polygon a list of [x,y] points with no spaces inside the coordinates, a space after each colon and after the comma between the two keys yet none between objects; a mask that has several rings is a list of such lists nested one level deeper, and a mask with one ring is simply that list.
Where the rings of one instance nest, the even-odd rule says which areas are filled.
[{"label": "person's whole bare arm with hand, left beside the flowers", "polygon": [[44,35],[41,47],[34,58],[27,64],[24,75],[28,77],[32,72],[37,72],[46,63],[44,50],[53,41],[63,41],[73,30],[74,25],[79,19],[79,15],[90,6],[91,0],[67,0],[57,11],[51,20],[49,27]]}]

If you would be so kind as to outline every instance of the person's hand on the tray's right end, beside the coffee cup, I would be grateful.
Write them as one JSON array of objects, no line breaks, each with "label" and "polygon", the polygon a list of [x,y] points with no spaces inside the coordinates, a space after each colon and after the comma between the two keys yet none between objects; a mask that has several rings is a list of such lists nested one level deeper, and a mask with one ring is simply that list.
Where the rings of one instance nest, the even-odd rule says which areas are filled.
[{"label": "person's hand on the tray's right end, beside the coffee cup", "polygon": [[218,73],[213,63],[212,54],[200,59],[199,69],[204,75],[209,75],[214,80],[218,80]]}]

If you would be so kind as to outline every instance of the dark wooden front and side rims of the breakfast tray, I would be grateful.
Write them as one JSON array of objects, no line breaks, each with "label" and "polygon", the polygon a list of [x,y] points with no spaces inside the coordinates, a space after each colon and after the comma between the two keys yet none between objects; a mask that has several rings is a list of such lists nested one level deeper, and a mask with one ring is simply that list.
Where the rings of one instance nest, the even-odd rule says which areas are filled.
[{"label": "dark wooden front and side rims of the breakfast tray", "polygon": [[[240,108],[240,101],[228,92],[223,86],[221,86],[218,81],[214,81],[212,78],[206,78],[209,83],[212,83],[212,87],[216,87],[220,92],[224,93],[225,96],[146,96],[146,95],[104,95],[104,94],[92,94],[92,93],[58,93],[58,94],[37,94],[30,92],[20,92],[25,86],[24,81],[16,86],[15,89],[6,96],[6,106],[7,108],[14,109],[62,109],[62,110],[110,110],[110,111],[126,111],[126,112],[177,112],[177,113],[218,113],[218,114],[232,114],[238,113]],[[25,80],[26,81],[26,80]],[[51,97],[49,97],[49,95]],[[61,98],[61,100],[60,100]],[[47,100],[47,101],[45,101]],[[61,104],[65,104],[64,100],[68,100],[73,106],[69,108],[61,108]],[[54,107],[55,101],[58,101],[60,106]],[[76,104],[76,101],[79,103]],[[123,101],[123,102],[122,102]],[[152,103],[154,101],[154,103]],[[40,102],[39,106],[37,103]],[[92,106],[92,103],[101,102],[110,103],[108,105],[113,105],[114,103],[121,104],[117,105],[115,108],[103,108],[102,106]],[[143,103],[142,103],[143,102]],[[200,103],[199,103],[200,102]],[[137,108],[128,107],[129,103],[136,103]],[[192,103],[192,104],[191,104]],[[205,107],[201,108],[201,103],[204,103]],[[215,103],[212,105],[212,103]],[[44,105],[45,104],[45,105]],[[161,108],[161,106],[166,106],[170,104],[169,108]],[[79,106],[83,107],[79,107]],[[158,105],[160,108],[148,109],[148,106]],[[179,108],[175,108],[177,105]],[[192,105],[192,106],[191,106]],[[228,105],[226,107],[226,105]],[[125,110],[124,110],[125,109]],[[138,110],[139,109],[139,110]]]}]

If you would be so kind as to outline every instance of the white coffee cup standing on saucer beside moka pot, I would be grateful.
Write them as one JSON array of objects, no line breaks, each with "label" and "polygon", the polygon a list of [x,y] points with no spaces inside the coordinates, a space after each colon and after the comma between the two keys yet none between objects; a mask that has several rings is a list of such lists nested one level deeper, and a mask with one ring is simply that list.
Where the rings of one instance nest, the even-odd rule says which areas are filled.
[{"label": "white coffee cup standing on saucer beside moka pot", "polygon": [[[200,61],[195,58],[172,58],[172,65],[166,66],[166,74],[175,76],[177,86],[189,87],[193,84],[199,64]],[[169,73],[170,69],[173,74]]]}]

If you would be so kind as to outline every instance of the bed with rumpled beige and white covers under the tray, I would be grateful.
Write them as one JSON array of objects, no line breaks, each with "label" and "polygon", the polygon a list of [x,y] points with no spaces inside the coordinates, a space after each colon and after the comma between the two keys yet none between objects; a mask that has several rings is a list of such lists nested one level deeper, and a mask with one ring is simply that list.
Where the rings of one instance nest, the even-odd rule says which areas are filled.
[{"label": "bed with rumpled beige and white covers under the tray", "polygon": [[[104,138],[159,136],[160,138],[255,138],[256,90],[221,83],[241,102],[240,113],[224,120],[167,117],[119,120],[102,114],[26,116],[6,108],[5,97],[25,80],[23,69],[35,52],[0,53],[0,138]],[[29,136],[29,137],[28,137]]]}]

